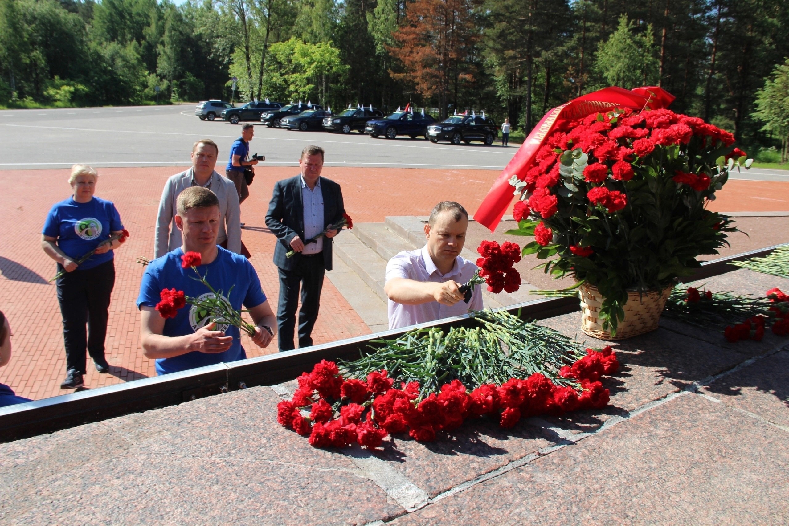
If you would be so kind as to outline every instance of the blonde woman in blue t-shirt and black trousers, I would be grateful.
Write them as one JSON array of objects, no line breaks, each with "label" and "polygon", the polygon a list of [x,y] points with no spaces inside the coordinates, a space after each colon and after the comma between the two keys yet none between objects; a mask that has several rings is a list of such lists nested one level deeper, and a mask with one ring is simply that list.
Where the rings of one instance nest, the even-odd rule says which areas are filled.
[{"label": "blonde woman in blue t-shirt and black trousers", "polygon": [[[85,349],[96,371],[110,371],[104,358],[104,338],[115,285],[113,251],[121,241],[105,241],[121,233],[123,225],[113,203],[93,196],[98,178],[90,166],[72,166],[69,185],[73,196],[54,204],[42,231],[44,252],[58,262],[58,273],[65,270],[56,282],[65,343],[66,375],[61,389],[84,386]],[[93,249],[93,256],[76,263]]]}]

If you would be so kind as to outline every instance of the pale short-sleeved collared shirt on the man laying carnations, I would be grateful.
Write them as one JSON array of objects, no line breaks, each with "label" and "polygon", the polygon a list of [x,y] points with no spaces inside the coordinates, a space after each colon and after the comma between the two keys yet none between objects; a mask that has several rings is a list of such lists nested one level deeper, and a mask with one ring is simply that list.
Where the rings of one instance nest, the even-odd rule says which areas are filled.
[{"label": "pale short-sleeved collared shirt on the man laying carnations", "polygon": [[[477,265],[468,259],[458,256],[454,260],[452,270],[447,274],[441,274],[428,253],[427,245],[425,245],[410,252],[400,252],[397,256],[390,259],[389,263],[387,263],[386,281],[388,282],[393,278],[436,283],[454,280],[462,285],[468,282],[476,271]],[[471,301],[468,304],[465,301],[458,301],[451,307],[439,304],[438,301],[430,301],[420,305],[406,305],[387,300],[390,329],[432,322],[436,319],[450,318],[451,316],[461,316],[469,310],[480,311],[483,308],[480,285],[474,285]]]}]

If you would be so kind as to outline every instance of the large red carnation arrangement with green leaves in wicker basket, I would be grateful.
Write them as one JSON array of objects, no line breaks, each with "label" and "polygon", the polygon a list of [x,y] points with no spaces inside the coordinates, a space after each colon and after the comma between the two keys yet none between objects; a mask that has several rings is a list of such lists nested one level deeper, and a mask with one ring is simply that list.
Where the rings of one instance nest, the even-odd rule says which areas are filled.
[{"label": "large red carnation arrangement with green leaves in wicker basket", "polygon": [[735,166],[751,165],[734,140],[664,109],[563,121],[525,175],[510,179],[518,229],[507,233],[534,237],[524,254],[556,256],[543,263],[546,272],[599,289],[600,320],[615,334],[628,291],[672,286],[736,230],[706,209]]}]

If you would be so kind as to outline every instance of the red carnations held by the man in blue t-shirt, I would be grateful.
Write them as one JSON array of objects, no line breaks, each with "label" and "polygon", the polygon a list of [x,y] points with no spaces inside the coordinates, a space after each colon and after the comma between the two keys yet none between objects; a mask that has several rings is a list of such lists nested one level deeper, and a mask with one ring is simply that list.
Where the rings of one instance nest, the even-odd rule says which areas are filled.
[{"label": "red carnations held by the man in blue t-shirt", "polygon": [[[252,325],[252,323],[245,322],[241,317],[241,312],[244,311],[235,310],[230,302],[224,297],[222,290],[215,290],[214,287],[208,283],[206,279],[208,277],[208,270],[206,270],[205,274],[200,274],[200,271],[197,270],[197,267],[200,267],[202,264],[202,260],[203,256],[200,255],[200,252],[186,252],[181,256],[181,267],[194,270],[197,277],[192,279],[205,285],[211,292],[211,295],[195,298],[186,296],[182,290],[162,289],[162,292],[159,293],[161,301],[156,304],[156,310],[159,311],[159,315],[163,318],[174,318],[178,315],[178,309],[184,308],[186,304],[195,305],[198,319],[205,319],[208,317],[211,323],[236,326],[253,337],[255,335],[255,326]],[[230,297],[230,293],[232,292],[233,287],[230,287],[230,290],[227,291],[227,297]]]}]

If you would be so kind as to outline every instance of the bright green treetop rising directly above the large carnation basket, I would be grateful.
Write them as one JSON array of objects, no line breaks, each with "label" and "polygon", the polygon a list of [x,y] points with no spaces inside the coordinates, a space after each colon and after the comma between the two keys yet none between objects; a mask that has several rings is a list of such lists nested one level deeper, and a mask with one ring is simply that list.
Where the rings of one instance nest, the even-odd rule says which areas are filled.
[{"label": "bright green treetop rising directly above the large carnation basket", "polygon": [[621,88],[657,84],[660,62],[652,24],[639,33],[635,24],[619,17],[619,27],[597,51],[595,68],[608,84]]}]

